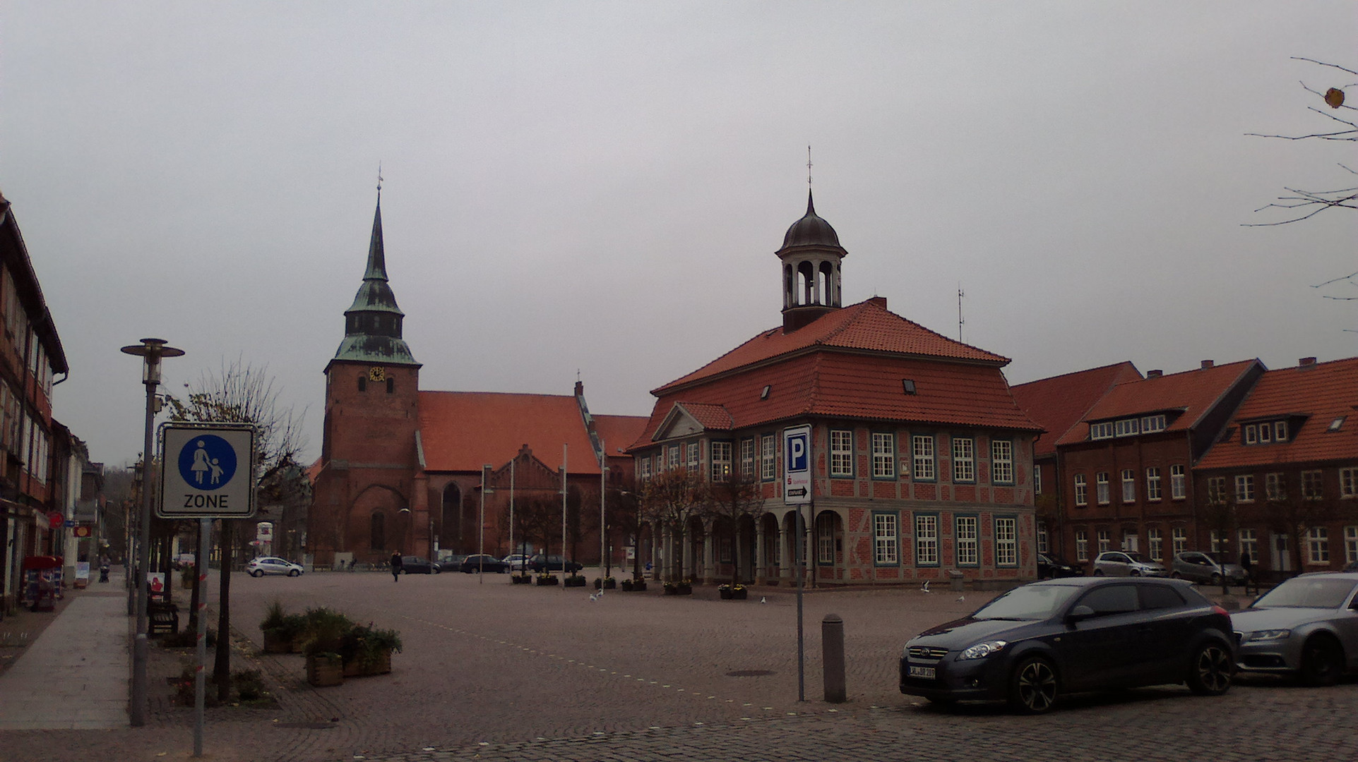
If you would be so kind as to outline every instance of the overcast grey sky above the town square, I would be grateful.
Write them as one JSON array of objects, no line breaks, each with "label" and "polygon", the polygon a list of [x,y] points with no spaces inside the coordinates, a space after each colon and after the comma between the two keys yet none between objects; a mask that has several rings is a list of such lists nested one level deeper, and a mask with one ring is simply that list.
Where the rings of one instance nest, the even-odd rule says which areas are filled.
[{"label": "overcast grey sky above the town square", "polygon": [[[0,5],[0,190],[71,363],[56,416],[141,449],[242,358],[306,408],[363,275],[382,161],[391,285],[425,389],[649,389],[779,323],[805,206],[845,302],[1013,358],[1013,384],[1358,354],[1358,214],[1253,210],[1353,184],[1298,84],[1351,84],[1351,1],[50,3]],[[1347,75],[1344,75],[1347,76]],[[1353,77],[1350,76],[1350,80]],[[1358,99],[1358,91],[1350,92]]]}]

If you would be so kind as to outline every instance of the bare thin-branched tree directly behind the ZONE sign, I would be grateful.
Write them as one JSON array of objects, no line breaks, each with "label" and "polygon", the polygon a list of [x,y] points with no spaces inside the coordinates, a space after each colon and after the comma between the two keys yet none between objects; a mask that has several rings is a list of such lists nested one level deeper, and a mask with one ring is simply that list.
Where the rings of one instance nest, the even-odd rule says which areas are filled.
[{"label": "bare thin-branched tree directly behind the ZONE sign", "polygon": [[[281,475],[296,473],[306,446],[301,435],[303,415],[293,415],[291,407],[278,404],[278,392],[266,367],[254,367],[240,359],[223,361],[220,374],[205,373],[197,382],[185,384],[183,399],[166,395],[170,419],[183,423],[250,423],[255,428],[257,460],[254,477],[266,489],[282,485],[299,488],[296,479]],[[301,483],[306,480],[301,479]],[[221,522],[221,593],[217,611],[217,649],[212,679],[217,683],[217,698],[225,701],[231,691],[231,565],[235,545],[234,522]]]}]

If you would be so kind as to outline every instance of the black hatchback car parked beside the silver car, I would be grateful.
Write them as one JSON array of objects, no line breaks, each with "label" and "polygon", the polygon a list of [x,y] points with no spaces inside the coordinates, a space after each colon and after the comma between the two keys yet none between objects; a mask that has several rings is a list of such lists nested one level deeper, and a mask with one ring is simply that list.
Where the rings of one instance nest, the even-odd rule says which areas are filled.
[{"label": "black hatchback car parked beside the silver car", "polygon": [[1024,715],[1088,690],[1187,682],[1218,696],[1234,677],[1230,616],[1187,582],[1067,578],[1016,587],[906,644],[900,693],[1008,701]]}]

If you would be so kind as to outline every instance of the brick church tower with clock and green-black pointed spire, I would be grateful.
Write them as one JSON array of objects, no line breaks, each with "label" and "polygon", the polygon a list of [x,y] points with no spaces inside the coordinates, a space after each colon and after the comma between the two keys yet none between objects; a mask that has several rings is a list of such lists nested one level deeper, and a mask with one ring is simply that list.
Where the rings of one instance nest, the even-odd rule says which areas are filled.
[{"label": "brick church tower with clock and green-black pointed spire", "polygon": [[308,538],[315,563],[426,555],[426,500],[417,494],[420,363],[401,336],[405,313],[387,282],[380,188],[368,267],[344,317],[344,340],[325,372]]}]

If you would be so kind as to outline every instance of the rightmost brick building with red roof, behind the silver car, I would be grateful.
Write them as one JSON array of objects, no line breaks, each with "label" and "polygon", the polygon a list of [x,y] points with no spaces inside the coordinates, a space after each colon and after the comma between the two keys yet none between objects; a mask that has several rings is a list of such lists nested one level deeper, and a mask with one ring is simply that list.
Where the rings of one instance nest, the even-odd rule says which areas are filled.
[{"label": "rightmost brick building with red roof, behind the silver car", "polygon": [[1264,373],[1194,473],[1199,549],[1266,579],[1358,563],[1358,358]]}]

